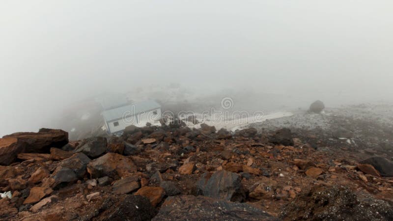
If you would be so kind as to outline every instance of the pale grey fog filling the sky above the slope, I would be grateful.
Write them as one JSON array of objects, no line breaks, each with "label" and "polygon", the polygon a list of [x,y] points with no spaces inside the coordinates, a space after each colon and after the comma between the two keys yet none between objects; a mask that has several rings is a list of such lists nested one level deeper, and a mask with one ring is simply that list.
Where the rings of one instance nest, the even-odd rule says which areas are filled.
[{"label": "pale grey fog filling the sky above the slope", "polygon": [[0,136],[51,127],[88,97],[170,83],[305,102],[282,102],[292,108],[391,101],[392,11],[391,0],[2,0]]}]

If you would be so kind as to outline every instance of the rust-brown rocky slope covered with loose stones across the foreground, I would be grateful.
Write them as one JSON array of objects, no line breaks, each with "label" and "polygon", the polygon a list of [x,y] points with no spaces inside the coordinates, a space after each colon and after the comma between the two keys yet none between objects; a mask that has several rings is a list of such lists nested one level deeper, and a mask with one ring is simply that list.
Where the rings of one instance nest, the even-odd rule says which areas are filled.
[{"label": "rust-brown rocky slope covered with loose stones across the foreground", "polygon": [[[382,111],[383,110],[383,111]],[[0,139],[2,220],[393,220],[389,107]],[[380,114],[378,114],[380,113]]]}]

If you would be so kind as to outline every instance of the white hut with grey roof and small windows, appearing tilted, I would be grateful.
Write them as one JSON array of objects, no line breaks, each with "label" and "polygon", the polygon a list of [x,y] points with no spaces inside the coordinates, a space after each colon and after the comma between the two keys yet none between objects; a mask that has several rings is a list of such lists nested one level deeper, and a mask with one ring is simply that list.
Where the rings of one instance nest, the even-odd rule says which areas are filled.
[{"label": "white hut with grey roof and small windows, appearing tilted", "polygon": [[130,102],[125,98],[102,99],[105,127],[109,134],[123,131],[127,126],[146,126],[161,119],[161,105],[153,100]]}]

